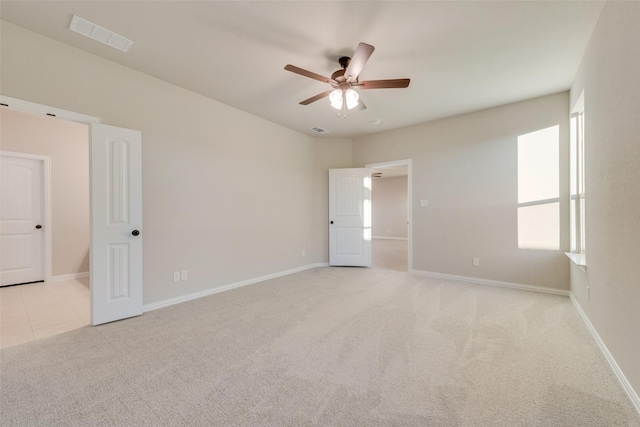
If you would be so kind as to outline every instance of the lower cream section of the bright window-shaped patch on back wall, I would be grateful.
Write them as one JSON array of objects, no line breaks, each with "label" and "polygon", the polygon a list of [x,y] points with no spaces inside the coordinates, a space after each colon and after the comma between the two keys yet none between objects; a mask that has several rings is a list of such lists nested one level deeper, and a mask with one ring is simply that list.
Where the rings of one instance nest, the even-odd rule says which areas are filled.
[{"label": "lower cream section of the bright window-shaped patch on back wall", "polygon": [[560,203],[518,208],[518,248],[560,249]]}]

